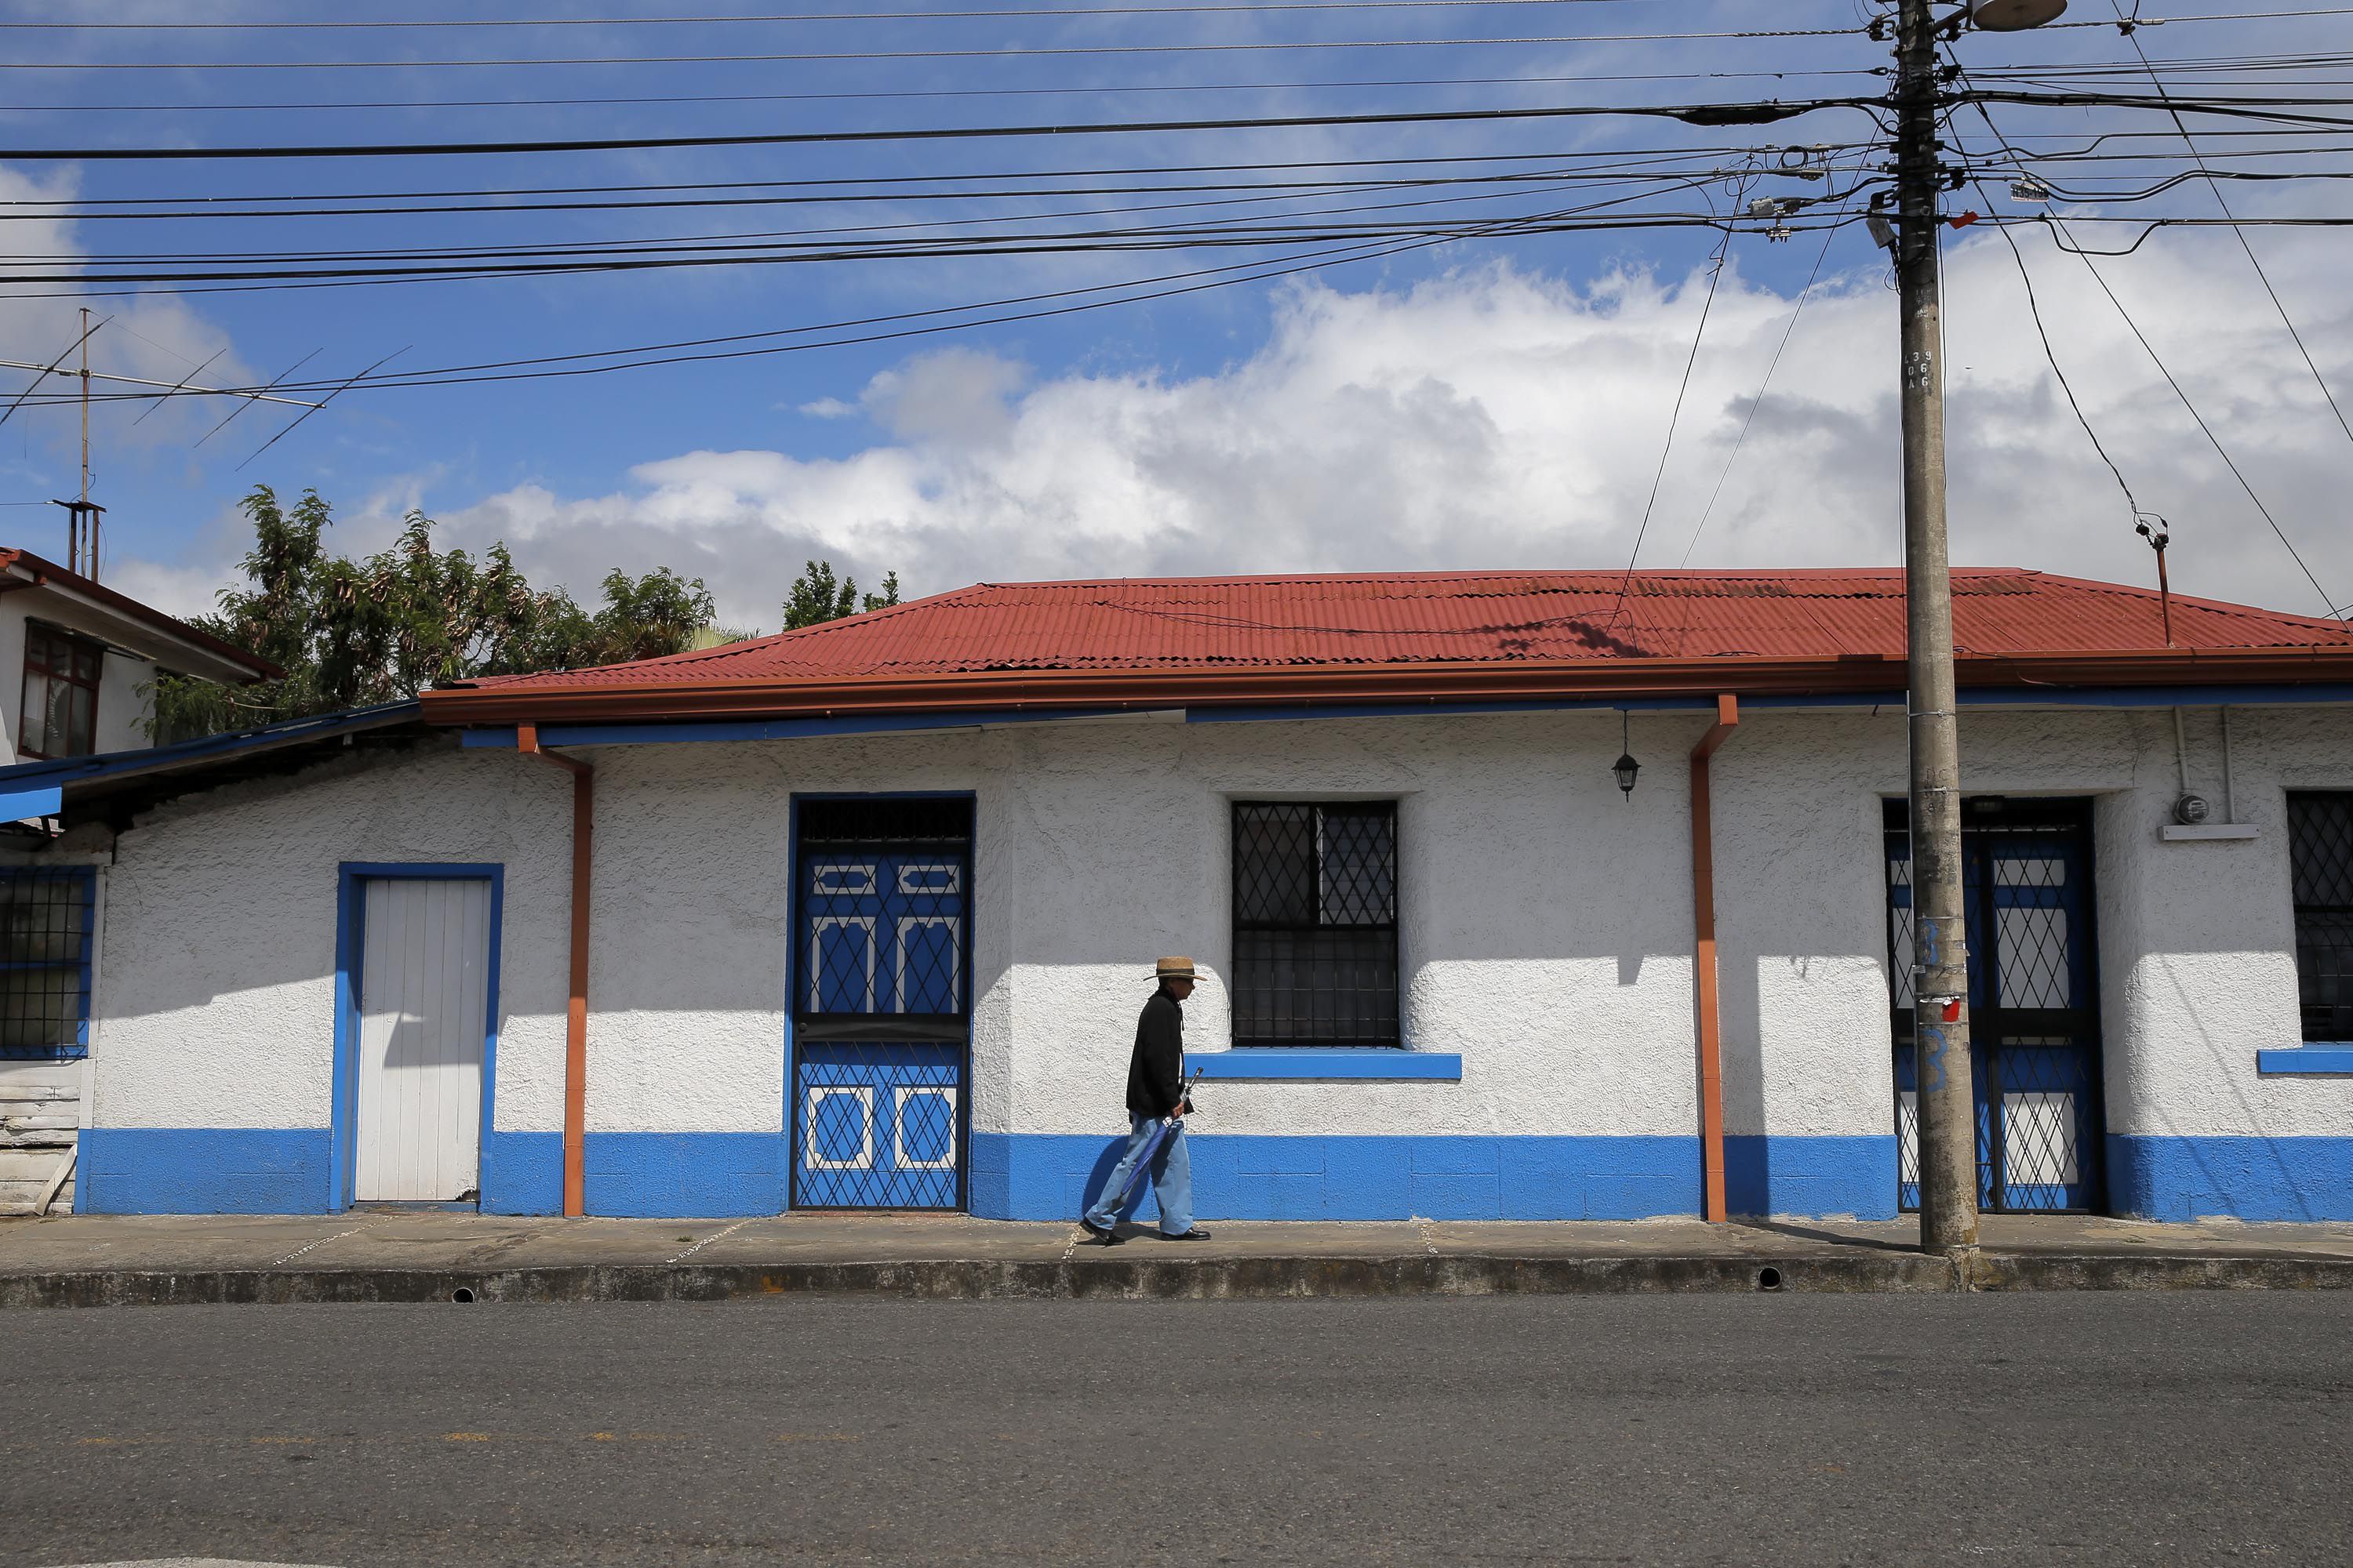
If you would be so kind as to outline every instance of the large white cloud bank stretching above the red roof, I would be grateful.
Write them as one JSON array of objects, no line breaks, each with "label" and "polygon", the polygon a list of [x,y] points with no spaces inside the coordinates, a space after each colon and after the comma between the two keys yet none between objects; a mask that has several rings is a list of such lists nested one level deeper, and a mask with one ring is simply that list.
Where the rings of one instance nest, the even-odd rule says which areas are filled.
[{"label": "large white cloud bank stretching above the red roof", "polygon": [[[2353,592],[2337,524],[2348,456],[2301,360],[2226,237],[2108,263],[2306,559]],[[2045,317],[2141,505],[2174,524],[2184,592],[2315,609],[2082,266],[2028,240]],[[2320,247],[2282,242],[2273,280],[2322,369],[2353,390],[2353,336]],[[1205,376],[1033,378],[979,350],[908,360],[856,397],[887,440],[845,458],[687,451],[607,496],[518,487],[452,508],[388,484],[346,548],[424,501],[449,543],[506,538],[584,597],[624,564],[704,576],[722,616],[774,625],[802,559],[911,592],[979,578],[1621,567],[1659,465],[1704,277],[1569,284],[1501,266],[1412,289],[1304,284],[1273,331]],[[1692,545],[1791,301],[1729,270],[1708,317],[1645,567],[1894,564],[1894,308],[1878,270],[1819,284]],[[2146,581],[2129,512],[2059,397],[2000,237],[1948,263],[1948,444],[1958,562]],[[847,400],[840,402],[849,409]],[[381,515],[379,515],[381,512]]]}]

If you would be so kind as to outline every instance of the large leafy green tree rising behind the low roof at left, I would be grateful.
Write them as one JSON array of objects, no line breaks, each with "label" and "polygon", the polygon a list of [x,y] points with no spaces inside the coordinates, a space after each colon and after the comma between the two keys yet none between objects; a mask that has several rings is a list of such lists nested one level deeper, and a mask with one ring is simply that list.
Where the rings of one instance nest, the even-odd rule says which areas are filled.
[{"label": "large leafy green tree rising behind the low roof at left", "polygon": [[224,590],[219,614],[195,625],[285,675],[240,689],[158,677],[160,741],[393,703],[475,675],[656,658],[692,646],[713,618],[701,578],[668,567],[642,578],[609,571],[591,614],[560,588],[534,590],[504,543],[480,559],[435,550],[433,520],[416,510],[388,550],[365,559],[327,552],[332,510],[318,491],[282,508],[261,484],[245,515],[254,524],[245,585]]}]

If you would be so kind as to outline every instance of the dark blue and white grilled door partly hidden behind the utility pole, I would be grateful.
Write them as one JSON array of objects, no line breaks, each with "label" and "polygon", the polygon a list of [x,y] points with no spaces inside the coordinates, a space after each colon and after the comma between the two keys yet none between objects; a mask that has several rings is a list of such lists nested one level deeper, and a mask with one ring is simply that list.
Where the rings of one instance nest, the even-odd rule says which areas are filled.
[{"label": "dark blue and white grilled door partly hidden behind the utility pole", "polygon": [[[1969,1079],[1977,1201],[1993,1213],[2085,1213],[2106,1201],[2092,816],[2082,799],[1962,806]],[[1911,835],[1887,809],[1899,1204],[1920,1206],[1911,990]]]}]

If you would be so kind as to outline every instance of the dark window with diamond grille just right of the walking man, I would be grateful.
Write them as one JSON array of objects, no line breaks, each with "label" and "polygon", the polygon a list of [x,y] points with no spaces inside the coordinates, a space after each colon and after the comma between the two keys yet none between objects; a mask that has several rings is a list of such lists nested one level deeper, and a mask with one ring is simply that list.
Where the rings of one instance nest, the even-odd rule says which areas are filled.
[{"label": "dark window with diamond grille just right of the walking man", "polygon": [[1233,1044],[1400,1044],[1395,802],[1235,802]]}]

